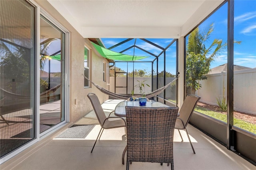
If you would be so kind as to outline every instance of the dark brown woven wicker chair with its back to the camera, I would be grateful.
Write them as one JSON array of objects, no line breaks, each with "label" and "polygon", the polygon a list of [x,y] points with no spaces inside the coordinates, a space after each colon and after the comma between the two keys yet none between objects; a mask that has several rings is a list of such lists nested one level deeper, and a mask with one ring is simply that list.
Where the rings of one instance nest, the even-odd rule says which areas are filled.
[{"label": "dark brown woven wicker chair with its back to the camera", "polygon": [[173,164],[173,135],[178,107],[126,106],[127,162]]}]

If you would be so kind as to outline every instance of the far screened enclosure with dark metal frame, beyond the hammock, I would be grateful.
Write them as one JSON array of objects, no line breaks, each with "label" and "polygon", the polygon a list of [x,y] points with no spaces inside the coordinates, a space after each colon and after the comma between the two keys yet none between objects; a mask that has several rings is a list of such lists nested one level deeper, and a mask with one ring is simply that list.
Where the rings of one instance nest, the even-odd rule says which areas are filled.
[{"label": "far screened enclosure with dark metal frame, beyond the hammock", "polygon": [[[134,91],[134,95],[140,95],[137,84],[143,82],[143,93],[150,93],[164,87],[178,76],[176,39],[130,38],[120,41],[107,47],[108,51],[96,48],[103,57],[114,60],[109,71],[111,92],[132,95]],[[119,54],[112,54],[112,51]],[[176,103],[177,82],[171,83],[158,97]]]}]

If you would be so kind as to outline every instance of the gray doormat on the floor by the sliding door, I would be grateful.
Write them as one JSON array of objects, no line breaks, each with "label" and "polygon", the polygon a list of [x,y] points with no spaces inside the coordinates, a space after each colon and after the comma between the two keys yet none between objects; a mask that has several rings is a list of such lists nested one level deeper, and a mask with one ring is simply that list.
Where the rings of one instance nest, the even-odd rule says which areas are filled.
[{"label": "gray doormat on the floor by the sliding door", "polygon": [[95,125],[70,127],[55,138],[85,138],[94,127]]}]

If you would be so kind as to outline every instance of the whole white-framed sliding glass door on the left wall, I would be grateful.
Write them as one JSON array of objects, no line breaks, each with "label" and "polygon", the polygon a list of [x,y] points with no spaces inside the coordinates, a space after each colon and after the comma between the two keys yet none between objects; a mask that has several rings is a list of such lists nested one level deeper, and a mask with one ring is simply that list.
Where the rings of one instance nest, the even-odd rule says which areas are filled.
[{"label": "whole white-framed sliding glass door on the left wall", "polygon": [[0,1],[1,162],[67,122],[68,32],[42,10],[37,20],[38,10]]}]

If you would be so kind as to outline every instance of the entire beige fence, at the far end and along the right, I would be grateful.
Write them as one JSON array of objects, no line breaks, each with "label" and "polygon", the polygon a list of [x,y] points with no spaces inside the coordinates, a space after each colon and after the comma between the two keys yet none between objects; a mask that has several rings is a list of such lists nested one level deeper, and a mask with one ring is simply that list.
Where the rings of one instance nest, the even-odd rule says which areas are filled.
[{"label": "entire beige fence, at the far end and along the right", "polygon": [[[208,79],[199,81],[202,87],[196,91],[196,95],[201,97],[200,101],[210,105],[218,105],[217,99],[222,99],[223,91],[224,97],[227,101],[227,72],[209,74]],[[150,85],[145,86],[146,93],[151,92],[152,86],[156,87],[155,77],[128,77],[127,93],[130,94],[132,87],[136,85],[138,81],[144,81],[144,83]],[[166,84],[171,82],[174,77],[166,78]],[[158,78],[158,87],[162,87],[164,82],[163,77]],[[126,87],[126,77],[116,77],[116,86]],[[110,91],[115,91],[114,77],[110,77]],[[155,88],[153,88],[155,89]],[[126,94],[126,88],[116,88],[116,93]],[[134,90],[134,94],[139,94],[138,89]],[[162,96],[162,93],[160,94]],[[171,86],[166,88],[166,99],[172,99],[175,97],[175,91]],[[250,113],[256,115],[256,68],[234,71],[234,110],[244,113]]]}]

